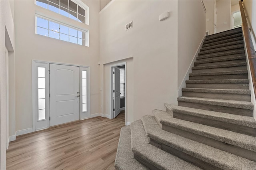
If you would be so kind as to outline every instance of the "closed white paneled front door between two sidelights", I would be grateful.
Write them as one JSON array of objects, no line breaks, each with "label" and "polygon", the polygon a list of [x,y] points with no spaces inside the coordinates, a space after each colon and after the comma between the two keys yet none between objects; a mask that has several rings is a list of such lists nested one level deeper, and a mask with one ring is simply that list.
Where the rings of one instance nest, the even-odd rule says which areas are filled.
[{"label": "closed white paneled front door between two sidelights", "polygon": [[79,67],[50,64],[50,126],[79,120]]}]

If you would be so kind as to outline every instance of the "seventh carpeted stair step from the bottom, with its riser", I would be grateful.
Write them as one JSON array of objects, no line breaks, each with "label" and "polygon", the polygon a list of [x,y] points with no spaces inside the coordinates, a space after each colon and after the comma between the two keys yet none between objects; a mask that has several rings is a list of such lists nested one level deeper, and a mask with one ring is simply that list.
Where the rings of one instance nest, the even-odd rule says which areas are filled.
[{"label": "seventh carpeted stair step from the bottom, with its riser", "polygon": [[182,96],[236,101],[251,101],[251,91],[241,89],[182,88]]}]

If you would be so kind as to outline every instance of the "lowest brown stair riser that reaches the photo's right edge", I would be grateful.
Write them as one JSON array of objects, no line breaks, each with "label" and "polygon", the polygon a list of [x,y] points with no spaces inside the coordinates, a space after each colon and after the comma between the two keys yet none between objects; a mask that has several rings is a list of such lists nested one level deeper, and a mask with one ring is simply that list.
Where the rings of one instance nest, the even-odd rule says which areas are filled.
[{"label": "lowest brown stair riser that reaches the photo's right edge", "polygon": [[205,136],[201,136],[198,134],[194,134],[185,130],[181,130],[178,128],[174,128],[174,127],[170,127],[167,125],[162,125],[162,129],[166,130],[168,132],[174,133],[174,134],[178,134],[179,136],[183,136],[185,138],[189,138],[191,140],[195,140],[197,142],[206,144],[208,146],[212,146],[214,148],[218,148],[220,150],[224,150],[226,152],[230,152],[232,154],[241,156],[243,158],[252,160],[252,161],[256,161],[256,152],[244,149],[244,148],[240,148],[238,146],[234,146],[231,144],[227,144],[225,142],[220,142],[218,140],[214,140],[211,138],[207,138]]}]

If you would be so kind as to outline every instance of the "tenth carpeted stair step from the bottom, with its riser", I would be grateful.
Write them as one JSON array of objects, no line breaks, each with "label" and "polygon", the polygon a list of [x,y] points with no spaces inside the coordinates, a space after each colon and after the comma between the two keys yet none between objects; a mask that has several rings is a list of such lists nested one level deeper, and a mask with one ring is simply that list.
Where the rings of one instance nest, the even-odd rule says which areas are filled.
[{"label": "tenth carpeted stair step from the bottom, with its riser", "polygon": [[246,62],[192,67],[192,73],[246,70]]}]

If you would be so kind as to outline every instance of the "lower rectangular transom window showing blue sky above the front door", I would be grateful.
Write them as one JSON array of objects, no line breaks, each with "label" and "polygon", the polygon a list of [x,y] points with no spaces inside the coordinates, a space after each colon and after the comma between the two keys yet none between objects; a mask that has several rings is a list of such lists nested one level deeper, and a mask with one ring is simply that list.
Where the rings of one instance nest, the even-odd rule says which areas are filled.
[{"label": "lower rectangular transom window showing blue sky above the front door", "polygon": [[87,32],[70,28],[38,16],[36,17],[36,34],[87,46]]}]

